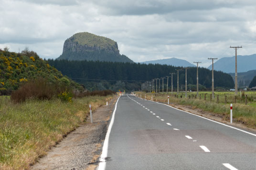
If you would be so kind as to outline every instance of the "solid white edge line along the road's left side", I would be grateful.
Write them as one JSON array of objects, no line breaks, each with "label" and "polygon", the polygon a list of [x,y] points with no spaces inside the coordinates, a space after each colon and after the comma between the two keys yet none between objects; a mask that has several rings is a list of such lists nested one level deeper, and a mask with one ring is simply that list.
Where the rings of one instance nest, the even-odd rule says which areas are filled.
[{"label": "solid white edge line along the road's left side", "polygon": [[[119,98],[120,98],[120,96],[119,96]],[[117,99],[117,102],[118,102],[119,98]],[[113,111],[112,118],[111,118],[111,121],[110,121],[108,129],[107,129],[107,134],[106,134],[104,144],[103,144],[103,147],[102,147],[102,154],[100,156],[100,163],[99,163],[99,166],[98,166],[98,170],[105,170],[105,168],[106,168],[105,158],[107,158],[108,140],[109,140],[110,131],[112,129],[112,126],[113,126],[113,123],[114,123],[114,120],[115,120],[116,110],[117,110],[117,103],[116,103],[115,110]]]}]

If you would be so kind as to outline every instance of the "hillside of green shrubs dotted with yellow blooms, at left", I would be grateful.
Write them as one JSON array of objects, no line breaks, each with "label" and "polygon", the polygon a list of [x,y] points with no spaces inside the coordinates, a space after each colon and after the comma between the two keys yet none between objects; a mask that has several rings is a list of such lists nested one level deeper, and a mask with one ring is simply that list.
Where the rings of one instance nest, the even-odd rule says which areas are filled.
[{"label": "hillside of green shrubs dotted with yellow blooms, at left", "polygon": [[[15,53],[0,50],[0,95],[10,95],[11,91],[17,90],[21,83],[39,77],[54,82],[64,76],[34,51]],[[81,88],[72,80],[70,83],[73,87]]]}]

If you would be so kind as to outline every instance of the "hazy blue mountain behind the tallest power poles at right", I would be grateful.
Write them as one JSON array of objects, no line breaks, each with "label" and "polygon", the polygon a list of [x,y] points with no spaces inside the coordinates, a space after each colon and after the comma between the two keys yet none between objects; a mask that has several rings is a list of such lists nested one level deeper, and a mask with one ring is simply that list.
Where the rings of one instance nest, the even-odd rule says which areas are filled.
[{"label": "hazy blue mountain behind the tallest power poles at right", "polygon": [[[235,72],[235,56],[224,57],[214,62],[214,70],[223,71],[226,73]],[[208,67],[212,70],[212,65]],[[256,54],[248,56],[237,56],[237,72],[246,72],[256,69]]]}]

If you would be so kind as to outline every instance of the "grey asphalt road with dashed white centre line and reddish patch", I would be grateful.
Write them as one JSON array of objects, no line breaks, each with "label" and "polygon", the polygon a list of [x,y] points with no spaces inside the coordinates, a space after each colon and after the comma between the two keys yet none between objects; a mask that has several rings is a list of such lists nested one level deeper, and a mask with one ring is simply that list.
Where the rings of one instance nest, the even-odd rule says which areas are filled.
[{"label": "grey asphalt road with dashed white centre line and reddish patch", "polygon": [[256,170],[253,132],[132,95],[113,115],[99,170]]}]

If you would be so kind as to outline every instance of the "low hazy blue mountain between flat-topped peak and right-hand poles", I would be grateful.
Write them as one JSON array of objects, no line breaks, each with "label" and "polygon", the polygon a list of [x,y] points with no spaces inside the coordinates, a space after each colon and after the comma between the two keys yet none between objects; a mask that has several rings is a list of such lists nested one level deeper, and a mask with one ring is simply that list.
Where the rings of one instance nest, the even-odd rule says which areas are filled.
[{"label": "low hazy blue mountain between flat-topped peak and right-hand poles", "polygon": [[195,67],[195,65],[191,64],[190,62],[186,60],[176,59],[176,58],[170,58],[170,59],[162,59],[162,60],[151,60],[151,61],[144,61],[141,62],[144,64],[167,64],[172,65],[175,67]]}]

